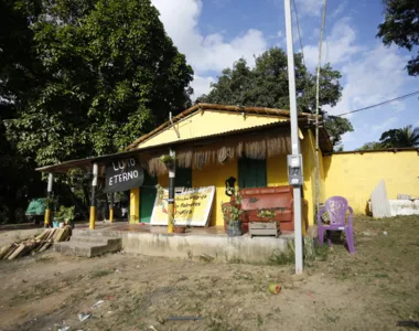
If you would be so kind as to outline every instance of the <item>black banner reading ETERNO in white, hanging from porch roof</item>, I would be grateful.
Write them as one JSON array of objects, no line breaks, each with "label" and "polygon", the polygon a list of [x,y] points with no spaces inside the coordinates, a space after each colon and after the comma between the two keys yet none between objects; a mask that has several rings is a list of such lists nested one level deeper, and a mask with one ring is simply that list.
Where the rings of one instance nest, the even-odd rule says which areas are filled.
[{"label": "black banner reading ETERNO in white, hanging from porch roof", "polygon": [[133,158],[106,164],[105,173],[105,192],[128,191],[141,186],[144,182],[144,171]]}]

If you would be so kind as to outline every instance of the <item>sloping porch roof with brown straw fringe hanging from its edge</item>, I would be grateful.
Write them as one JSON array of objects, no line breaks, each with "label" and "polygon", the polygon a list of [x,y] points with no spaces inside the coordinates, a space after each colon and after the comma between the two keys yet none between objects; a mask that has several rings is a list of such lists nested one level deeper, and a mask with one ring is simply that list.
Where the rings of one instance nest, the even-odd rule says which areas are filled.
[{"label": "sloping porch roof with brown straw fringe hanging from its edge", "polygon": [[[301,128],[310,129],[308,120],[300,119]],[[330,140],[320,139],[323,151],[331,151]],[[201,169],[207,164],[224,164],[234,158],[266,159],[278,154],[291,153],[291,135],[289,122],[275,122],[240,129],[229,132],[211,135],[198,139],[190,139],[162,143],[160,146],[132,149],[130,151],[71,160],[60,164],[37,168],[41,172],[66,173],[69,169],[79,168],[92,171],[93,163],[99,164],[99,174],[104,175],[105,164],[112,160],[136,158],[151,175],[163,174],[165,167],[159,158],[169,152],[176,152],[178,167]]]}]

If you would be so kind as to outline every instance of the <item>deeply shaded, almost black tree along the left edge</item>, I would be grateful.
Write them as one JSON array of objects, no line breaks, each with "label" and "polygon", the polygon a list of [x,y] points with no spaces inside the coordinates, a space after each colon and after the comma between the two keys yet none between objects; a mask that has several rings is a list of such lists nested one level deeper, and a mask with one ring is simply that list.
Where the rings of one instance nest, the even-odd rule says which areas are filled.
[{"label": "deeply shaded, almost black tree along the left edge", "polygon": [[40,1],[0,1],[0,223],[23,222],[30,197],[42,196],[45,189],[33,160],[8,141],[4,126],[36,84],[41,63],[30,22],[39,11]]}]

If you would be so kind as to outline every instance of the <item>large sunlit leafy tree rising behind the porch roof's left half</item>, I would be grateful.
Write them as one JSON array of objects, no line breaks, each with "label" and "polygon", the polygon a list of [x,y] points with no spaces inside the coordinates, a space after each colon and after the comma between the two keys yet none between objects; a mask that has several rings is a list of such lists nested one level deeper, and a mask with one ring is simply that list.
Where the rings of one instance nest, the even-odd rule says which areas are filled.
[{"label": "large sunlit leafy tree rising behind the porch roof's left half", "polygon": [[42,73],[9,134],[37,164],[115,152],[190,104],[193,71],[149,0],[42,2]]}]

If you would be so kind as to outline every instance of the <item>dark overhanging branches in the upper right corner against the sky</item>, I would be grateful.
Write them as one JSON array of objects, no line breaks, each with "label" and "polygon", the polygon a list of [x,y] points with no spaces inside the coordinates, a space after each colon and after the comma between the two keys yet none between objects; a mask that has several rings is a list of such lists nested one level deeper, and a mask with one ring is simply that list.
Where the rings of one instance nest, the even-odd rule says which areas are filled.
[{"label": "dark overhanging branches in the upper right corner against the sky", "polygon": [[[419,1],[384,0],[385,21],[378,25],[377,36],[385,45],[395,43],[409,52],[419,45]],[[406,66],[409,75],[419,75],[419,52]]]}]

